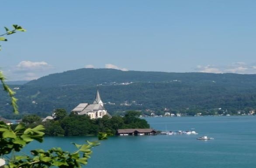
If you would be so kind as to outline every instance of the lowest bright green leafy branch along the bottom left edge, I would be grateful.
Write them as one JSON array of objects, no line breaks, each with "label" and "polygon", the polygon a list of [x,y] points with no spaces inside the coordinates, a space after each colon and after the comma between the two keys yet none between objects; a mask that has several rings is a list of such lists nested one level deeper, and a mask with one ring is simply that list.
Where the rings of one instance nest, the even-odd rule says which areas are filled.
[{"label": "lowest bright green leafy branch along the bottom left edge", "polygon": [[51,148],[47,151],[42,149],[32,150],[32,157],[28,155],[15,156],[14,161],[8,168],[81,168],[86,165],[92,154],[90,148],[99,145],[97,142],[87,141],[87,144],[75,144],[77,150],[74,152],[63,151],[61,148]]}]

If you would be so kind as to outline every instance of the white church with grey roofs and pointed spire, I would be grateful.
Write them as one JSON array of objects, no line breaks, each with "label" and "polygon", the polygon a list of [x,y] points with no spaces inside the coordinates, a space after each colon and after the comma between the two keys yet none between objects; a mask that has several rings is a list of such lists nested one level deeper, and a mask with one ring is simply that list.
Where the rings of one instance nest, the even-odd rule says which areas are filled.
[{"label": "white church with grey roofs and pointed spire", "polygon": [[89,103],[80,103],[76,108],[72,110],[72,112],[77,113],[78,115],[89,115],[90,119],[102,118],[104,115],[108,115],[107,110],[104,108],[103,101],[100,98],[99,90],[97,90],[95,100],[93,104]]}]

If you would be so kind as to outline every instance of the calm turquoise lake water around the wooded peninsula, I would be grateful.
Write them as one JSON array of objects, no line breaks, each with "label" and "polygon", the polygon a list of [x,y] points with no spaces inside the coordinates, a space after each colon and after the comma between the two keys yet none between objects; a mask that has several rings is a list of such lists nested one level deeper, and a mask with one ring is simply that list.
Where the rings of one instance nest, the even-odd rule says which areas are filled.
[{"label": "calm turquoise lake water around the wooded peninsula", "polygon": [[[145,118],[156,130],[197,135],[115,136],[93,148],[86,168],[255,168],[256,116]],[[200,141],[206,135],[214,140]],[[46,137],[26,150],[83,144],[96,137]]]}]

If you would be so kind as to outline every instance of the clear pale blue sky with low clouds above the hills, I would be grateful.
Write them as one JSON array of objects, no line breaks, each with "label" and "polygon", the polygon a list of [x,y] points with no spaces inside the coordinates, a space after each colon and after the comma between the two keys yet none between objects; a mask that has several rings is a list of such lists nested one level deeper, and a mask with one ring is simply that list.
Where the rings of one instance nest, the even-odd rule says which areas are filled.
[{"label": "clear pale blue sky with low clouds above the hills", "polygon": [[9,81],[79,68],[256,74],[256,0],[1,1]]}]

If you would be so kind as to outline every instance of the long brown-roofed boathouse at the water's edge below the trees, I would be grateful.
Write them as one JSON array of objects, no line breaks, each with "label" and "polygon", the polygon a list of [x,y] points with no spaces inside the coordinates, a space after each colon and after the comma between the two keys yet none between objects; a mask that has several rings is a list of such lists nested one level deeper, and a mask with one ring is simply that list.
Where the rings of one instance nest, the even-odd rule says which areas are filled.
[{"label": "long brown-roofed boathouse at the water's edge below the trees", "polygon": [[155,135],[156,130],[145,128],[145,129],[118,129],[117,135],[139,135],[139,134],[145,134],[145,135]]}]

